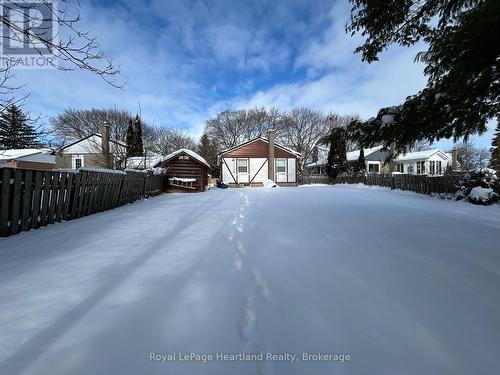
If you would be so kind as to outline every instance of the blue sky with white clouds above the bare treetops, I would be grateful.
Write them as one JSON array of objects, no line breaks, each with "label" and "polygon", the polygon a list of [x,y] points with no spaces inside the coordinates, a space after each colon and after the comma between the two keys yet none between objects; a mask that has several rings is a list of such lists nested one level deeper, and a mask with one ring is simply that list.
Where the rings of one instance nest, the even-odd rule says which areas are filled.
[{"label": "blue sky with white clouds above the bare treetops", "polygon": [[[347,0],[81,1],[81,25],[120,65],[116,89],[87,72],[17,71],[25,108],[47,120],[67,107],[140,103],[148,122],[194,136],[220,110],[307,106],[364,118],[425,85],[422,46],[361,62],[345,34]],[[493,126],[491,126],[493,127]],[[492,130],[475,142],[489,146]],[[449,147],[450,142],[439,146]]]}]

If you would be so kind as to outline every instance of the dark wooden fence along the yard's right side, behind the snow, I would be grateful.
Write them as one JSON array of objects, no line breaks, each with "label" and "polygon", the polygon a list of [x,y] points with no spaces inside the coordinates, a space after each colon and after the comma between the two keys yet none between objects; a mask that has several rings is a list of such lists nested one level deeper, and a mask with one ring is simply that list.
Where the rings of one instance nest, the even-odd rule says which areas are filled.
[{"label": "dark wooden fence along the yard's right side, behind the snow", "polygon": [[[365,184],[385,186],[391,189],[410,190],[421,194],[454,194],[460,175],[427,176],[409,174],[368,174],[368,175],[342,175],[335,180],[336,184]],[[305,175],[305,184],[328,184],[330,179],[326,175]]]}]

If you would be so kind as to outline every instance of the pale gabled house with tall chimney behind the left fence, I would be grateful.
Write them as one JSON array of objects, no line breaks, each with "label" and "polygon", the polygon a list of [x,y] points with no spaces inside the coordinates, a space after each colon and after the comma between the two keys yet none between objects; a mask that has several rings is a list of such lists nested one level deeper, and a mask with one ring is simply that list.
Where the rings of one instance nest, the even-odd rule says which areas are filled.
[{"label": "pale gabled house with tall chimney behind the left fence", "polygon": [[[108,138],[109,139],[109,138]],[[117,168],[121,167],[127,153],[127,146],[121,142],[109,140],[108,165],[106,161],[106,150],[103,149],[106,141],[99,133],[79,139],[69,145],[61,147],[57,152],[57,168],[78,169],[85,168]]]}]

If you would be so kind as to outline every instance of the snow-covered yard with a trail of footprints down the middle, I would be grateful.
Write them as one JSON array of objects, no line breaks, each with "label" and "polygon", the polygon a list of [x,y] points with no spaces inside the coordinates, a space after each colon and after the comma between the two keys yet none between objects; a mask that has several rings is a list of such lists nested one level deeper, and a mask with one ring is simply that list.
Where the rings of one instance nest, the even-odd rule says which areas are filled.
[{"label": "snow-covered yard with a trail of footprints down the middle", "polygon": [[[0,374],[500,373],[499,233],[498,205],[348,185],[23,232],[0,240]],[[172,352],[298,361],[150,361]]]}]

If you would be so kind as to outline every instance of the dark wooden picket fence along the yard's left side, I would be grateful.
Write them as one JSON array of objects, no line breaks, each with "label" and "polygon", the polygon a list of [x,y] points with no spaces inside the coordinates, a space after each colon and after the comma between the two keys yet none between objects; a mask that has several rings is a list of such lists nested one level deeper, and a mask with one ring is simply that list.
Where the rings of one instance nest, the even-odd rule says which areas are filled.
[{"label": "dark wooden picket fence along the yard's left side", "polygon": [[141,171],[0,169],[0,237],[109,210],[161,193]]}]

